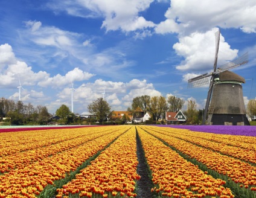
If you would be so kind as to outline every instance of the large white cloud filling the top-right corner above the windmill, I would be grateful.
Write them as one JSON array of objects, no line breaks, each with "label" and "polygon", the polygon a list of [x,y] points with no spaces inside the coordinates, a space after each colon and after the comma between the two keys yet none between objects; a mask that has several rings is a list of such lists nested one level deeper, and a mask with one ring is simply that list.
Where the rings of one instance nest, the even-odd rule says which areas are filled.
[{"label": "large white cloud filling the top-right corner above the windmill", "polygon": [[212,27],[240,28],[245,33],[256,32],[255,1],[171,0],[166,20],[156,27],[157,33],[191,34]]}]

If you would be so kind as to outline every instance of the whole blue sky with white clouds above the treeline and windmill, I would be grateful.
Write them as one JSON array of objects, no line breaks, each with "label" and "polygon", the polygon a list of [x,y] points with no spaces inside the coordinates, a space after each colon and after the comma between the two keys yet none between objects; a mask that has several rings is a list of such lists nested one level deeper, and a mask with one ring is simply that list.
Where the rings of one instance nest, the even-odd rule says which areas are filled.
[{"label": "whole blue sky with white clouds above the treeline and windmill", "polygon": [[71,82],[74,113],[103,90],[112,110],[140,95],[202,109],[208,88],[187,89],[187,80],[213,69],[218,28],[218,66],[248,51],[232,71],[246,79],[245,104],[256,97],[255,0],[2,0],[0,19],[0,97],[18,101],[20,78],[21,100],[50,113],[71,109]]}]

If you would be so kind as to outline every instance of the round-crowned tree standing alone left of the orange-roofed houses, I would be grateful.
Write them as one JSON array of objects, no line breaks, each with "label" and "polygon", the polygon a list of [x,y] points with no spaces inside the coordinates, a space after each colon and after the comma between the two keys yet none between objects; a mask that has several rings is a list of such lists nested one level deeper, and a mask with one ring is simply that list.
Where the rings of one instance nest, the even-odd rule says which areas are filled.
[{"label": "round-crowned tree standing alone left of the orange-roofed houses", "polygon": [[95,115],[100,123],[106,119],[107,115],[110,113],[110,108],[109,103],[103,98],[92,101],[87,107],[88,111]]}]

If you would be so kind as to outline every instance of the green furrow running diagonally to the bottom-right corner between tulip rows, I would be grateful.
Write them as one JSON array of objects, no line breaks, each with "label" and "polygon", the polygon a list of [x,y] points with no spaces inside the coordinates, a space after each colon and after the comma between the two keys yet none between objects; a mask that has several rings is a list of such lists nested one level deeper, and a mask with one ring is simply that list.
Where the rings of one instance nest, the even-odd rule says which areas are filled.
[{"label": "green furrow running diagonally to the bottom-right corner between tulip rows", "polygon": [[[145,130],[147,132],[147,130]],[[147,132],[150,135],[152,135],[150,132]],[[241,188],[239,184],[236,184],[234,181],[232,181],[231,178],[229,178],[227,175],[224,174],[219,174],[217,171],[211,170],[210,168],[207,168],[205,164],[202,162],[197,161],[194,158],[190,158],[190,156],[185,155],[184,153],[180,152],[178,149],[175,147],[172,147],[169,145],[167,142],[165,142],[163,139],[158,138],[155,135],[154,136],[156,139],[159,139],[159,141],[163,142],[165,145],[170,147],[170,149],[174,150],[175,152],[179,153],[182,158],[187,160],[188,162],[191,162],[194,165],[197,165],[198,168],[202,171],[207,171],[208,174],[213,176],[215,179],[222,179],[225,180],[226,184],[224,185],[225,188],[230,188],[232,193],[235,195],[235,198],[256,198],[256,193],[254,191],[249,190],[249,188]]]}]

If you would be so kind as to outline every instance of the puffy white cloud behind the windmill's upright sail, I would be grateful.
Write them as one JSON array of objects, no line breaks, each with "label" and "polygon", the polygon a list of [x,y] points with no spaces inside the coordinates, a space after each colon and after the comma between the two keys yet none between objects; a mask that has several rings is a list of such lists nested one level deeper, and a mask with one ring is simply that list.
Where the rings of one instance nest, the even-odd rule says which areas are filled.
[{"label": "puffy white cloud behind the windmill's upright sail", "polygon": [[[185,58],[176,69],[182,71],[208,71],[213,69],[215,56],[215,33],[213,28],[206,33],[192,33],[190,36],[179,38],[179,42],[173,45],[176,53]],[[218,65],[223,65],[228,60],[237,57],[238,50],[231,49],[224,37],[220,35]]]}]

